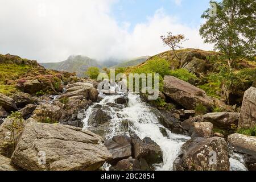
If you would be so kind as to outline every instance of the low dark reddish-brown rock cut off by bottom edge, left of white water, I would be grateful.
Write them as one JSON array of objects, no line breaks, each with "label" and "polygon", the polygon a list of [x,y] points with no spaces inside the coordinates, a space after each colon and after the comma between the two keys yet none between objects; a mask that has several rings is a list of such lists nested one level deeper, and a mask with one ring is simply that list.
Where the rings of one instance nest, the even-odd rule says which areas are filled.
[{"label": "low dark reddish-brown rock cut off by bottom edge, left of white water", "polygon": [[146,160],[129,158],[119,161],[115,166],[110,167],[109,171],[148,171],[149,169]]}]

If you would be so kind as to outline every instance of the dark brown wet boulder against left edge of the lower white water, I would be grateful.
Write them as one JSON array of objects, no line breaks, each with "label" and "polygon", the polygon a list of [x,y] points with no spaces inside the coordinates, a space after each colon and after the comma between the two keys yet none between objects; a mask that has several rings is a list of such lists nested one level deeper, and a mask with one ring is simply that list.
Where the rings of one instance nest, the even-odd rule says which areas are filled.
[{"label": "dark brown wet boulder against left edge of the lower white water", "polygon": [[145,159],[148,164],[163,162],[163,152],[158,144],[148,137],[141,140],[137,135],[131,136],[135,159]]}]

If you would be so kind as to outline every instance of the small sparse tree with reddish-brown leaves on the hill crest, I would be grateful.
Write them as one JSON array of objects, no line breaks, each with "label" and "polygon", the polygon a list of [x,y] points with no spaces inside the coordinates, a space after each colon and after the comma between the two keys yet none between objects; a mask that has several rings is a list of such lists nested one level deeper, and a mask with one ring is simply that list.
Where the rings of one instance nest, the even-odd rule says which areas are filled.
[{"label": "small sparse tree with reddish-brown leaves on the hill crest", "polygon": [[167,36],[162,35],[161,39],[163,40],[163,43],[165,45],[169,46],[172,49],[176,59],[180,60],[180,57],[177,56],[175,50],[177,48],[181,49],[182,48],[181,47],[182,42],[185,42],[185,40],[187,40],[187,39],[185,39],[185,36],[181,35],[181,34],[179,34],[179,35],[172,35],[172,32],[168,32],[167,34],[168,34]]}]

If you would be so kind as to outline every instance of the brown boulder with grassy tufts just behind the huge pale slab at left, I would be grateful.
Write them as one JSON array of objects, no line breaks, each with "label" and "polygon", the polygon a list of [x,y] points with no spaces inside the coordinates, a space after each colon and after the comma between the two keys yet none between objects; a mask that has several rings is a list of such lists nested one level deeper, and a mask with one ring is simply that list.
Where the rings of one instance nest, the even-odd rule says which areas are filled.
[{"label": "brown boulder with grassy tufts just behind the huge pale slab at left", "polygon": [[36,107],[32,118],[38,122],[56,123],[59,122],[61,115],[62,113],[59,106],[42,103]]}]

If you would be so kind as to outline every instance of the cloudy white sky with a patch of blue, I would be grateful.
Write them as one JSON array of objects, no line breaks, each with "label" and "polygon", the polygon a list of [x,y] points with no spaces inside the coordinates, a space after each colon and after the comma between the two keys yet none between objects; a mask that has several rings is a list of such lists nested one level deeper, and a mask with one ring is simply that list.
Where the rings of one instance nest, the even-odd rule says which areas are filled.
[{"label": "cloudy white sky with a patch of blue", "polygon": [[[168,31],[184,48],[212,50],[199,36],[209,0],[0,0],[0,53],[42,62],[69,55],[131,59],[167,51]],[[2,6],[3,5],[3,6]]]}]

